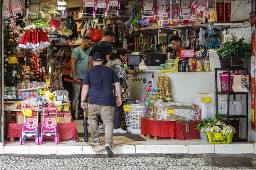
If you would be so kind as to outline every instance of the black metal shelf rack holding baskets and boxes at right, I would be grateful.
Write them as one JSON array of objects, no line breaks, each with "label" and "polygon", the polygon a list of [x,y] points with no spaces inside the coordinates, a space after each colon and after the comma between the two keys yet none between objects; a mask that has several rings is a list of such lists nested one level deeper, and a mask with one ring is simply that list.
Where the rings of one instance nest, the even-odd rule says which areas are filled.
[{"label": "black metal shelf rack holding baskets and boxes at right", "polygon": [[[218,91],[218,84],[217,84],[217,71],[228,71],[228,92],[219,92]],[[222,117],[226,117],[227,118],[227,123],[229,125],[229,119],[234,119],[234,128],[236,129],[236,119],[238,118],[245,118],[245,138],[240,138],[240,137],[233,137],[232,142],[247,142],[247,136],[248,136],[248,92],[230,92],[229,91],[229,87],[230,87],[230,71],[232,71],[233,73],[235,71],[245,71],[245,74],[248,75],[248,68],[215,68],[215,102],[216,102],[216,116],[218,114],[218,94],[227,94],[228,95],[228,106],[227,106],[227,115],[223,115],[221,114]],[[233,100],[236,100],[236,94],[245,94],[246,96],[246,104],[245,104],[245,115],[229,115],[229,98],[230,95],[234,96]]]}]

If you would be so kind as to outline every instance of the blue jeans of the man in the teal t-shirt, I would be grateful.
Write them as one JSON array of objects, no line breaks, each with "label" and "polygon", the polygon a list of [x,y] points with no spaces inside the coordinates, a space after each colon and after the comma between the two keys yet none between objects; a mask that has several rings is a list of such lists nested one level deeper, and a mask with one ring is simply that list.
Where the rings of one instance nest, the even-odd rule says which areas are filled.
[{"label": "blue jeans of the man in the teal t-shirt", "polygon": [[[83,82],[83,79],[77,79],[78,82]],[[75,116],[76,115],[76,102],[77,99],[79,99],[78,102],[78,116],[83,116],[84,114],[84,109],[81,106],[81,91],[82,87],[76,83],[72,83],[72,99],[71,99],[71,115]]]}]

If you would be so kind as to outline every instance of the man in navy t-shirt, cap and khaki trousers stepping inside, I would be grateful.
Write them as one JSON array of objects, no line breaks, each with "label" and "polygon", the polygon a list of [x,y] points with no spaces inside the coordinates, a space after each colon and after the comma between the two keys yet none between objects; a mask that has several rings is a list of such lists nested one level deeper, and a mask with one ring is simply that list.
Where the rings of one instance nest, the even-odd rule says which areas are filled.
[{"label": "man in navy t-shirt, cap and khaki trousers stepping inside", "polygon": [[[113,83],[115,84],[117,93],[117,106],[122,104],[121,100],[121,86],[116,72],[103,63],[103,57],[100,53],[92,55],[93,67],[87,70],[84,74],[83,88],[81,93],[81,106],[83,109],[88,108],[89,128],[93,138],[91,144],[100,145],[98,133],[98,116],[101,115],[105,125],[105,148],[108,156],[114,156],[111,144],[113,144],[113,116],[114,116],[114,94]],[[88,93],[88,89],[90,91]],[[88,107],[84,102],[87,93]]]}]

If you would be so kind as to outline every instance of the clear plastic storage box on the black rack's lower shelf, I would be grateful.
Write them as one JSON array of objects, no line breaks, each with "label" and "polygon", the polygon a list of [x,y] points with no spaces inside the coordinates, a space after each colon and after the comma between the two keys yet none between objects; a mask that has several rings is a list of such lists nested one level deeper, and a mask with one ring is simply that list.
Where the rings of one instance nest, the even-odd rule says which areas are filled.
[{"label": "clear plastic storage box on the black rack's lower shelf", "polygon": [[[229,101],[229,115],[242,115],[242,101]],[[228,100],[221,101],[221,113],[228,114]]]}]

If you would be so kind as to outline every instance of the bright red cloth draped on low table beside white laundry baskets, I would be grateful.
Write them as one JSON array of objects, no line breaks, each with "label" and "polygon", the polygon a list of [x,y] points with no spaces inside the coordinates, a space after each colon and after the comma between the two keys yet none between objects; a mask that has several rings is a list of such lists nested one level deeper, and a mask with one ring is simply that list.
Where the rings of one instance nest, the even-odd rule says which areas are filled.
[{"label": "bright red cloth draped on low table beside white laundry baskets", "polygon": [[174,121],[154,121],[141,118],[141,134],[154,137],[175,137]]}]

